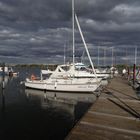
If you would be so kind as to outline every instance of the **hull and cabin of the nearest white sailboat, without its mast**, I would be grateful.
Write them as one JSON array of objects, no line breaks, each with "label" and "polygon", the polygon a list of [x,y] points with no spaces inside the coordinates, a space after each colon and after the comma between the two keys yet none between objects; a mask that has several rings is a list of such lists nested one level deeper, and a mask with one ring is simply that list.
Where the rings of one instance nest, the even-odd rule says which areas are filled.
[{"label": "hull and cabin of the nearest white sailboat, without its mast", "polygon": [[[43,79],[43,74],[47,79]],[[62,92],[94,92],[99,89],[101,80],[96,78],[75,78],[68,71],[64,71],[59,65],[55,71],[42,71],[41,79],[36,79],[34,75],[26,78],[25,87],[47,91]]]}]

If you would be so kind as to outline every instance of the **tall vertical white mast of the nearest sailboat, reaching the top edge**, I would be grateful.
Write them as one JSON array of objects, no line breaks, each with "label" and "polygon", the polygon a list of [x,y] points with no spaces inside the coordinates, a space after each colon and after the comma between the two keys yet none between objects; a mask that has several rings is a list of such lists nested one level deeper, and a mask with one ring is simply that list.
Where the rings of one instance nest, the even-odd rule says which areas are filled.
[{"label": "tall vertical white mast of the nearest sailboat, reaching the top edge", "polygon": [[75,63],[74,0],[72,0],[72,42],[73,42],[73,64],[74,64]]}]

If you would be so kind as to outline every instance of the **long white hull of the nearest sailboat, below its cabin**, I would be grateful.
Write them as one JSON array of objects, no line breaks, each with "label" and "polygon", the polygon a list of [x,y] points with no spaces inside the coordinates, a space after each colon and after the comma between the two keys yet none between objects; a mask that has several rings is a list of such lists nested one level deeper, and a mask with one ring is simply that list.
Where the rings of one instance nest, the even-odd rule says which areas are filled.
[{"label": "long white hull of the nearest sailboat, below its cabin", "polygon": [[72,84],[72,83],[57,83],[57,82],[47,82],[47,81],[39,81],[39,80],[28,80],[25,82],[25,87],[46,90],[46,91],[62,91],[62,92],[94,92],[98,89],[99,85],[97,83],[80,83],[80,84]]}]

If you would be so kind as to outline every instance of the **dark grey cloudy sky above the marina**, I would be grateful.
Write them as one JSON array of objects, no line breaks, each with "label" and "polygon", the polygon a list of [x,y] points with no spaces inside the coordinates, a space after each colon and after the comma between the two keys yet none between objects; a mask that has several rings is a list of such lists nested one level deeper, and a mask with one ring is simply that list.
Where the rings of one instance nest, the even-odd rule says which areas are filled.
[{"label": "dark grey cloudy sky above the marina", "polygon": [[[100,64],[111,63],[110,47],[116,63],[134,63],[136,47],[140,56],[140,0],[75,0],[75,12],[94,63],[99,47]],[[80,60],[77,27],[75,34]],[[64,48],[70,61],[71,0],[0,0],[0,62],[63,63]]]}]

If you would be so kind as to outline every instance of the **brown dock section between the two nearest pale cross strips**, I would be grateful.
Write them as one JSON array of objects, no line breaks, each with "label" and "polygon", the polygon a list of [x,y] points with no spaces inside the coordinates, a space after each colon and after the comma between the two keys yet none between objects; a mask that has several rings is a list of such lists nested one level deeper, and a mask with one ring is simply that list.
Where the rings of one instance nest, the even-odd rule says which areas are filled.
[{"label": "brown dock section between the two nearest pale cross strips", "polygon": [[130,129],[136,131],[140,130],[140,121],[138,121],[137,119],[117,117],[117,115],[114,117],[110,115],[102,115],[88,112],[81,121],[91,124],[104,125],[107,127],[115,127],[119,129]]}]

